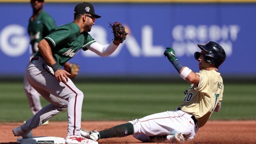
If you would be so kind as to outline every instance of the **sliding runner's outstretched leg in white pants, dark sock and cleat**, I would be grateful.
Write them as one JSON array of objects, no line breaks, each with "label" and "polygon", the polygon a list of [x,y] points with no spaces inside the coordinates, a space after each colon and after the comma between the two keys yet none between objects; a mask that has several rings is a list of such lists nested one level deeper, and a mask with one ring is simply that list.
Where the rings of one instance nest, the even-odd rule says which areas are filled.
[{"label": "sliding runner's outstretched leg in white pants, dark sock and cleat", "polygon": [[[141,119],[129,121],[128,123],[114,126],[99,132],[82,131],[82,136],[98,140],[99,138],[124,137],[128,135],[145,135],[152,139],[162,139],[167,135],[177,133],[190,133],[191,128],[188,126],[190,116],[184,112],[167,111],[146,116]],[[93,137],[91,137],[91,135]]]}]

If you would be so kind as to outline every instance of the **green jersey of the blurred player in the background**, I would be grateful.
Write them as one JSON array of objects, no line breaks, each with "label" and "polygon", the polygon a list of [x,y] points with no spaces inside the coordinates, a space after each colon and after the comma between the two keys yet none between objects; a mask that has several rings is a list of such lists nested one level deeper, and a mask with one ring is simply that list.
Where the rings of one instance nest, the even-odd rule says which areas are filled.
[{"label": "green jersey of the blurred player in the background", "polygon": [[28,34],[32,52],[36,53],[38,43],[49,34],[50,29],[56,27],[54,19],[45,11],[42,11],[35,19],[30,17]]}]

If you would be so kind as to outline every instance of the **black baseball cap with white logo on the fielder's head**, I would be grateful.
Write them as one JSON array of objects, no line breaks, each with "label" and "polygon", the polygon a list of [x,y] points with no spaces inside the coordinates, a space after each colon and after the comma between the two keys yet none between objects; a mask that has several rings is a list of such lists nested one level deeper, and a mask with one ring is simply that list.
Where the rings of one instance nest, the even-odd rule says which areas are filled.
[{"label": "black baseball cap with white logo on the fielder's head", "polygon": [[77,4],[76,7],[75,7],[75,10],[74,10],[74,14],[84,14],[84,13],[85,14],[91,14],[95,18],[100,18],[101,17],[101,16],[95,14],[94,7],[93,7],[92,4],[86,3],[86,2]]}]

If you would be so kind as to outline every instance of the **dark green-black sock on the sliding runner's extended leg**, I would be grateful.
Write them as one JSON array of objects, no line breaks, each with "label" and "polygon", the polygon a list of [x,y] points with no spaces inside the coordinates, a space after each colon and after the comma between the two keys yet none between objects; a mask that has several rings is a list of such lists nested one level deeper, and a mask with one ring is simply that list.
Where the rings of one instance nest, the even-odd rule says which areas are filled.
[{"label": "dark green-black sock on the sliding runner's extended leg", "polygon": [[99,131],[100,138],[125,137],[134,133],[131,123],[121,124],[109,129]]}]

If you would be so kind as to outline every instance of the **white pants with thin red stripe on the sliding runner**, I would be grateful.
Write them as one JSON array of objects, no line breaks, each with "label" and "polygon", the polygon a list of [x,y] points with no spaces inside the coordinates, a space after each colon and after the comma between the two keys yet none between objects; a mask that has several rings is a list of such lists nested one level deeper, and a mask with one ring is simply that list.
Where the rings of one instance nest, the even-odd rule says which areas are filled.
[{"label": "white pants with thin red stripe on the sliding runner", "polygon": [[134,135],[173,135],[182,133],[186,139],[193,139],[198,130],[191,114],[181,110],[166,111],[129,121],[133,124]]}]

